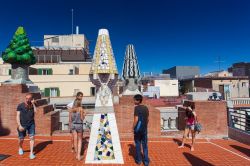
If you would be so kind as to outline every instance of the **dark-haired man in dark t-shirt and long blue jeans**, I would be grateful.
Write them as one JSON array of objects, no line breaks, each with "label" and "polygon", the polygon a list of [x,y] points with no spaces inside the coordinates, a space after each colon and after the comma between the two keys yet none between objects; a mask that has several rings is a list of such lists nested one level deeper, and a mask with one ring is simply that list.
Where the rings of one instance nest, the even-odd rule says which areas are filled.
[{"label": "dark-haired man in dark t-shirt and long blue jeans", "polygon": [[134,141],[135,141],[135,148],[136,148],[136,156],[135,162],[137,164],[141,164],[142,156],[141,156],[141,145],[143,148],[144,154],[144,165],[149,165],[149,158],[148,158],[148,134],[147,134],[147,127],[148,127],[148,116],[149,111],[148,107],[142,105],[142,95],[137,94],[134,96],[134,123],[133,123],[133,130],[134,130]]}]

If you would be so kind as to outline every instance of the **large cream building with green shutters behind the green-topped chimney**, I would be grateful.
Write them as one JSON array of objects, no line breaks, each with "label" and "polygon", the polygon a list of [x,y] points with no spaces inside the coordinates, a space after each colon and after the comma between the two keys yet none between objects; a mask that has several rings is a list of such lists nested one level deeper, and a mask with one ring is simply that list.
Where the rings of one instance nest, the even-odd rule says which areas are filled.
[{"label": "large cream building with green shutters behind the green-topped chimney", "polygon": [[[94,96],[95,86],[89,80],[91,57],[86,37],[75,34],[48,36],[44,37],[46,46],[32,47],[36,64],[29,68],[31,81],[46,97],[73,96],[78,91],[84,96]],[[10,75],[11,65],[0,62],[0,83],[10,79]]]}]

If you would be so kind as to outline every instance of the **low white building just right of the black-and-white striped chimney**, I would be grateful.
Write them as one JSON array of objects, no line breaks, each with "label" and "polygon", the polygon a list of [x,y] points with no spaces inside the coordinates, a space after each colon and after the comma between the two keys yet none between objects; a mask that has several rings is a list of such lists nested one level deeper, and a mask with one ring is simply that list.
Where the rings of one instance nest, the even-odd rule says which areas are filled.
[{"label": "low white building just right of the black-and-white striped chimney", "polygon": [[170,79],[168,74],[144,74],[141,79],[143,94],[153,98],[179,96],[178,85],[178,80]]}]

